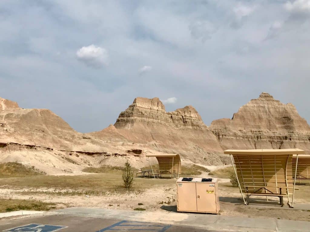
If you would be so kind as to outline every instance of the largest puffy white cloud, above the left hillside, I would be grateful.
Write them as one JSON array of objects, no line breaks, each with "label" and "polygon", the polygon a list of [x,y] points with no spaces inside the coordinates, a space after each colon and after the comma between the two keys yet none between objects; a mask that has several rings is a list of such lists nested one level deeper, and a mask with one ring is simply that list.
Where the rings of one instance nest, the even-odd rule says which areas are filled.
[{"label": "largest puffy white cloud, above the left hillside", "polygon": [[108,65],[107,50],[93,44],[79,49],[76,56],[80,61],[91,67],[100,68],[103,65]]}]

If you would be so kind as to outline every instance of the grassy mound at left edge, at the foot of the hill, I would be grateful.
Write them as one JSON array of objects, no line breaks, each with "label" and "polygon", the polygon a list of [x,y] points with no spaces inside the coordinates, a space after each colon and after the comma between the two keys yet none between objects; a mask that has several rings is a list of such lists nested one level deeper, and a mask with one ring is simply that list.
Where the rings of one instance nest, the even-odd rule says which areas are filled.
[{"label": "grassy mound at left edge, at the foot of the hill", "polygon": [[28,167],[17,162],[0,163],[0,178],[45,175],[34,166]]}]

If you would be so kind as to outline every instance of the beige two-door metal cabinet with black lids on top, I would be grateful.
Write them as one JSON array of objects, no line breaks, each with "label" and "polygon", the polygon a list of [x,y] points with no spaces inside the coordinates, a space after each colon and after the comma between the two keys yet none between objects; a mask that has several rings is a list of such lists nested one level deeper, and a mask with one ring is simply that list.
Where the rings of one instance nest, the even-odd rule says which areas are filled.
[{"label": "beige two-door metal cabinet with black lids on top", "polygon": [[219,213],[217,178],[184,178],[177,180],[178,212]]}]

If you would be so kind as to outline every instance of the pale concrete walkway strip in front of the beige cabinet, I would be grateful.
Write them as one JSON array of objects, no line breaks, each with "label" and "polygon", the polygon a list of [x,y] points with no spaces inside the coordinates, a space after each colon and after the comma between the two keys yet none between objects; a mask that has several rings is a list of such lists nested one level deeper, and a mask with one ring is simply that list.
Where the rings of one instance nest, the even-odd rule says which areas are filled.
[{"label": "pale concrete walkway strip in front of the beige cabinet", "polygon": [[[201,227],[215,231],[305,232],[310,228],[310,222],[308,221],[279,220],[262,217],[230,217],[200,213],[136,212],[100,208],[66,208],[55,212],[77,215],[78,217],[111,217],[129,221],[154,221],[163,224]],[[179,217],[180,215],[182,217]]]}]

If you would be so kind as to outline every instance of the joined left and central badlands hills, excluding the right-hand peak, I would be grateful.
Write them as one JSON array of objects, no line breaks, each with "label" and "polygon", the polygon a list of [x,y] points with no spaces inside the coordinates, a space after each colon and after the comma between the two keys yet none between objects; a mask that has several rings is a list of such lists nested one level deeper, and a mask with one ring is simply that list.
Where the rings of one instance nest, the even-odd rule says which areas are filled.
[{"label": "joined left and central badlands hills, excluding the right-hand peak", "polygon": [[193,107],[167,113],[159,99],[155,101],[137,98],[115,126],[82,134],[50,110],[23,109],[1,98],[0,159],[36,166],[49,174],[123,165],[127,159],[143,167],[148,165],[146,154],[160,152],[179,153],[183,160],[207,165],[226,162],[217,138]]}]

